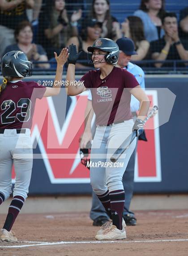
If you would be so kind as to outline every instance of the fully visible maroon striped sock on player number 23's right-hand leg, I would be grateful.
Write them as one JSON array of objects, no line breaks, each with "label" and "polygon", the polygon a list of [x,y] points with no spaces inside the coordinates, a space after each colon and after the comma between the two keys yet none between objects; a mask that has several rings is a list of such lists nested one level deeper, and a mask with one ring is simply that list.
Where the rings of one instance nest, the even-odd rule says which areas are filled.
[{"label": "fully visible maroon striped sock on player number 23's right-hand leg", "polygon": [[6,229],[8,231],[12,229],[14,221],[16,220],[18,213],[20,212],[24,202],[25,202],[25,199],[21,196],[13,197],[13,200],[9,206],[8,215],[5,220],[3,229]]}]

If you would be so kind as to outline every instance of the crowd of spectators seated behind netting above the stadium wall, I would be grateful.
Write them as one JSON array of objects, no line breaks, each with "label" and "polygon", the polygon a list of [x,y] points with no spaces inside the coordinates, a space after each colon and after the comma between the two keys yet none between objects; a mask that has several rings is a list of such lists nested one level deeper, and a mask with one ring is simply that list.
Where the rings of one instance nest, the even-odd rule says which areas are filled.
[{"label": "crowd of spectators seated behind netting above the stadium wall", "polygon": [[[173,66],[169,60],[188,61],[188,7],[171,13],[165,10],[165,0],[141,0],[139,9],[132,15],[125,13],[120,23],[111,15],[109,0],[73,2],[0,0],[0,58],[8,51],[21,50],[35,62],[34,67],[48,69],[54,52],[59,54],[73,43],[82,51],[76,68],[88,69],[93,64],[88,62],[87,47],[94,40],[128,37],[137,52],[132,61],[156,60],[152,65],[158,68]],[[85,2],[90,4],[89,11]],[[177,65],[185,67],[188,63]]]}]

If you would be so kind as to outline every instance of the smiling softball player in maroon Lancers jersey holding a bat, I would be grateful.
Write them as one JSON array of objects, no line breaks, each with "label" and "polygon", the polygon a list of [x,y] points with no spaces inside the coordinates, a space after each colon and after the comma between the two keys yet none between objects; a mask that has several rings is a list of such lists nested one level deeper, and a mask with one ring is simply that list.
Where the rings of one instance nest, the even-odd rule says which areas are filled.
[{"label": "smiling softball player in maroon Lancers jersey holding a bat", "polygon": [[[97,70],[87,72],[81,78],[82,85],[71,86],[70,81],[75,80],[75,63],[79,54],[75,45],[69,46],[67,93],[77,95],[87,88],[90,88],[92,93],[97,129],[91,148],[90,181],[111,219],[101,227],[95,238],[123,239],[126,238],[126,232],[122,219],[124,209],[122,176],[135,148],[136,139],[115,165],[112,165],[110,157],[132,130],[137,131],[137,136],[143,132],[143,120],[147,115],[150,101],[135,77],[115,65],[118,61],[119,48],[114,41],[99,38],[93,46],[88,47],[88,51]],[[130,111],[131,94],[141,103],[135,123]]]}]

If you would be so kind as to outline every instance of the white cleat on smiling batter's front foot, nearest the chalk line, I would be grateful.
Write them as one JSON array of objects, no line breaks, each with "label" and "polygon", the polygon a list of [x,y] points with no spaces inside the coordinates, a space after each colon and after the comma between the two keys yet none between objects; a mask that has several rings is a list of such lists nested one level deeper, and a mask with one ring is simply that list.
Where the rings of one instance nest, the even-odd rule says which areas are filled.
[{"label": "white cleat on smiling batter's front foot, nearest the chalk line", "polygon": [[95,236],[97,240],[117,240],[127,238],[125,229],[117,229],[115,225],[112,225],[111,228],[103,231],[103,234],[97,234]]}]

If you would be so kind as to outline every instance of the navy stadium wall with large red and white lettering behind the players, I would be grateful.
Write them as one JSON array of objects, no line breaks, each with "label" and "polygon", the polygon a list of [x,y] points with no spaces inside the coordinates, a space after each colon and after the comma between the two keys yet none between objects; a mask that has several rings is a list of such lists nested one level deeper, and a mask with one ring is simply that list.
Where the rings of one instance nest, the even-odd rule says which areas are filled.
[{"label": "navy stadium wall with large red and white lettering behind the players", "polygon": [[[52,77],[33,76],[32,80],[43,83]],[[146,93],[152,104],[159,106],[159,113],[148,124],[148,142],[138,144],[134,192],[186,193],[188,76],[148,75],[145,83]],[[86,102],[87,94],[66,97],[65,90],[53,99],[37,100],[31,130],[34,165],[30,194],[91,192],[89,171],[80,163],[78,143]]]}]

